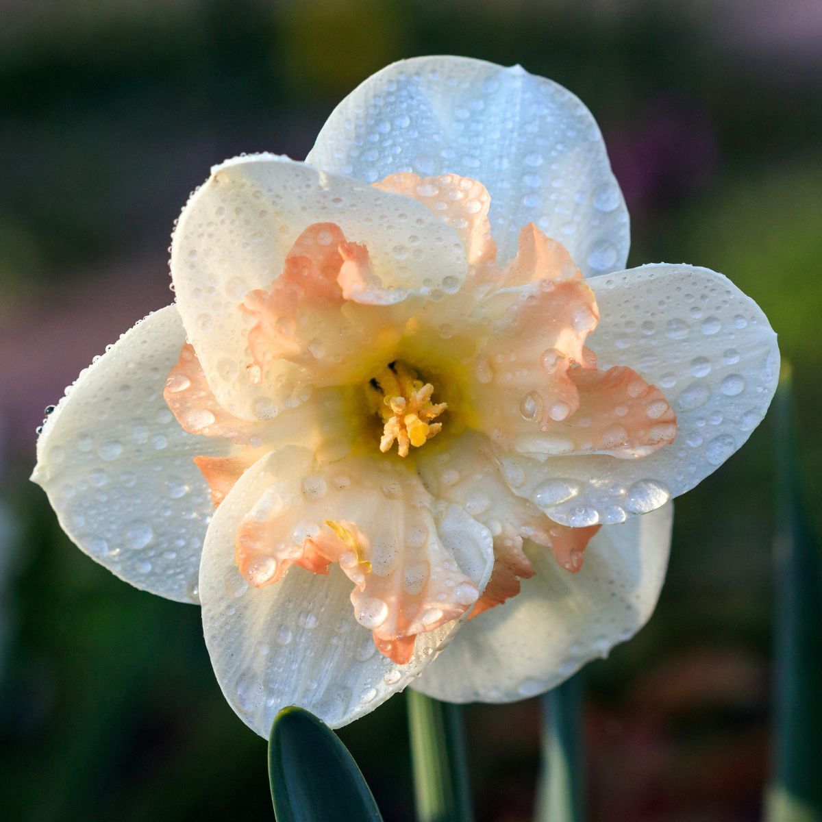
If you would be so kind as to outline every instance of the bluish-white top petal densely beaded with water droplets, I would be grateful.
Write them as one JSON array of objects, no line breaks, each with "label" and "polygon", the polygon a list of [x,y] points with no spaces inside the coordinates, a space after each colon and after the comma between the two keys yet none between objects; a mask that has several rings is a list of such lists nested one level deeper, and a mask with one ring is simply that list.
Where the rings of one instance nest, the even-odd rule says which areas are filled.
[{"label": "bluish-white top petal densely beaded with water droplets", "polygon": [[597,123],[570,91],[520,66],[395,62],[331,113],[307,162],[366,182],[399,171],[478,179],[503,263],[533,222],[585,274],[626,264],[628,212]]}]

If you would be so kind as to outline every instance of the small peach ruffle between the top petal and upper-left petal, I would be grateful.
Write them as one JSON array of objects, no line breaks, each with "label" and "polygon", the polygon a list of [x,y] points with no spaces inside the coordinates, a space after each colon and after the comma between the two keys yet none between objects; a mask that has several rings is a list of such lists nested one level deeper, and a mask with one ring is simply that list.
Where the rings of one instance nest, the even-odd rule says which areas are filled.
[{"label": "small peach ruffle between the top petal and upper-left petal", "polygon": [[491,197],[483,183],[460,177],[459,174],[420,177],[404,172],[390,174],[384,180],[375,182],[374,187],[411,197],[427,206],[434,215],[455,229],[475,276],[480,272],[486,274],[486,266],[496,257],[496,243],[488,221]]}]

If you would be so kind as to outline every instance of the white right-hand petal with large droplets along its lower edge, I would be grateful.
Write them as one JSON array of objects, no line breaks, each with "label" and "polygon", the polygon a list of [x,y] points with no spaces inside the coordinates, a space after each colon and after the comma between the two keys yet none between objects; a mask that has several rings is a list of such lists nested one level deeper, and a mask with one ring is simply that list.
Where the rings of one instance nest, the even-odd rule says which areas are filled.
[{"label": "white right-hand petal with large droplets along its lower edge", "polygon": [[598,366],[630,366],[661,388],[677,439],[643,459],[511,459],[514,491],[575,526],[621,522],[690,491],[760,424],[779,376],[767,317],[715,271],[659,263],[589,285],[601,314],[589,337]]}]

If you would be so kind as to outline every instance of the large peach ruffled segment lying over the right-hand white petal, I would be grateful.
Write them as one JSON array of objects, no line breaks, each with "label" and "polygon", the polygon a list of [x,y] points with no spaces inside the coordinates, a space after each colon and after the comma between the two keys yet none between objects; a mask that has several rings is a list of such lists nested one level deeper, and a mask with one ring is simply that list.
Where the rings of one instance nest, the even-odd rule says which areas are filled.
[{"label": "large peach ruffled segment lying over the right-hand white petal", "polygon": [[630,368],[597,369],[585,346],[599,321],[593,291],[560,243],[520,232],[500,288],[480,304],[496,333],[474,367],[478,427],[498,446],[538,455],[648,455],[672,442],[662,392]]}]

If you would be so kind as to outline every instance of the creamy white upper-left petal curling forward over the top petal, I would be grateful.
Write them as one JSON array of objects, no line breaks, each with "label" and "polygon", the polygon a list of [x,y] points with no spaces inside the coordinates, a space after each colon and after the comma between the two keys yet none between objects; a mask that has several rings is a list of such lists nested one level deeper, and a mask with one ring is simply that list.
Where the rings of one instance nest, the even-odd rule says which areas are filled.
[{"label": "creamy white upper-left petal curling forward over the top petal", "polygon": [[216,166],[188,201],[174,232],[171,274],[188,339],[219,403],[238,417],[266,419],[289,399],[301,369],[284,363],[255,386],[246,367],[250,319],[239,303],[269,289],[293,242],[310,224],[333,222],[363,242],[376,275],[399,297],[454,291],[465,253],[454,229],[408,197],[284,157],[238,157]]}]

